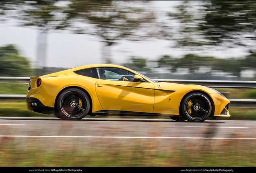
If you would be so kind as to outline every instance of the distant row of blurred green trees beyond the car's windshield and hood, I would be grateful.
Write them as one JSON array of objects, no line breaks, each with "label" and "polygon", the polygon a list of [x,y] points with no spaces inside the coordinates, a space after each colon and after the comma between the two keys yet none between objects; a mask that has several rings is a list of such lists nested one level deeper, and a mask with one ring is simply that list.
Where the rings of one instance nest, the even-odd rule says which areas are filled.
[{"label": "distant row of blurred green trees beyond the car's windshield and hood", "polygon": [[[190,74],[198,72],[200,67],[206,67],[211,72],[222,71],[230,75],[240,77],[242,70],[256,70],[253,64],[255,54],[248,55],[244,58],[215,58],[213,56],[200,56],[197,54],[186,54],[182,58],[173,58],[170,55],[161,56],[157,62],[157,68],[165,68],[169,72],[177,72],[179,68],[188,69]],[[147,70],[147,59],[132,56],[129,60],[130,63],[123,64],[128,68],[137,71],[149,72]]]}]

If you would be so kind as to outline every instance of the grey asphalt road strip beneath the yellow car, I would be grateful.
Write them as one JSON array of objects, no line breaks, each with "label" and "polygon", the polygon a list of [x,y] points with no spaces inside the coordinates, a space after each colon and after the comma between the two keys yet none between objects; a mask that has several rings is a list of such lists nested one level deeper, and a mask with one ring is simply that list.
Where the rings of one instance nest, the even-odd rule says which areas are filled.
[{"label": "grey asphalt road strip beneath the yellow car", "polygon": [[52,139],[256,139],[256,121],[0,117],[0,137]]}]

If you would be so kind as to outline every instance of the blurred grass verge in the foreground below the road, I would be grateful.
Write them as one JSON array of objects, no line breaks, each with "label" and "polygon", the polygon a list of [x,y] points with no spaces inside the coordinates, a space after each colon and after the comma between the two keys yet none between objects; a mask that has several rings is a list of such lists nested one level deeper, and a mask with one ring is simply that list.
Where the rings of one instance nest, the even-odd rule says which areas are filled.
[{"label": "blurred grass verge in the foreground below the road", "polygon": [[[21,147],[14,138],[1,137],[0,167],[255,167],[256,145],[243,140],[134,139],[42,143],[27,139]],[[83,147],[79,147],[79,143]],[[55,149],[46,149],[46,147]],[[44,145],[44,147],[42,146]]]}]

